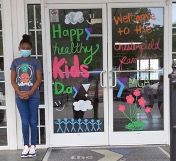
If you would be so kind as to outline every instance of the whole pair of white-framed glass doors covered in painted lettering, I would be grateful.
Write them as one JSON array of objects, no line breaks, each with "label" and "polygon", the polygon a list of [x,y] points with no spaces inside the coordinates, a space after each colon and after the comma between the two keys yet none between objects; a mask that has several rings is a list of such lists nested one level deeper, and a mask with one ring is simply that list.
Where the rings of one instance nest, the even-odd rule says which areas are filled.
[{"label": "whole pair of white-framed glass doors covered in painted lettering", "polygon": [[161,3],[47,6],[52,146],[167,142],[166,15]]}]

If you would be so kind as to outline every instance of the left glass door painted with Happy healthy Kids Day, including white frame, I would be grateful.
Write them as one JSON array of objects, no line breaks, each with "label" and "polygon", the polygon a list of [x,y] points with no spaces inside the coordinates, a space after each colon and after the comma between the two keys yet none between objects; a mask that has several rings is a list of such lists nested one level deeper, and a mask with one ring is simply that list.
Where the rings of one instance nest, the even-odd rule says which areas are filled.
[{"label": "left glass door painted with Happy healthy Kids Day, including white frame", "polygon": [[47,5],[51,146],[108,144],[105,9]]}]

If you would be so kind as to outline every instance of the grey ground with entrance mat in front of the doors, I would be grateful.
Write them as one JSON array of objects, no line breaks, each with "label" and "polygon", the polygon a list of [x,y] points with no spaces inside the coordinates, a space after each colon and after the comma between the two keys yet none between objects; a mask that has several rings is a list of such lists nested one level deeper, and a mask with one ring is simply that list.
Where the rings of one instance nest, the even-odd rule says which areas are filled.
[{"label": "grey ground with entrance mat in front of the doors", "polygon": [[20,158],[21,150],[0,151],[0,161],[170,161],[169,147],[73,147],[38,149],[35,158]]}]

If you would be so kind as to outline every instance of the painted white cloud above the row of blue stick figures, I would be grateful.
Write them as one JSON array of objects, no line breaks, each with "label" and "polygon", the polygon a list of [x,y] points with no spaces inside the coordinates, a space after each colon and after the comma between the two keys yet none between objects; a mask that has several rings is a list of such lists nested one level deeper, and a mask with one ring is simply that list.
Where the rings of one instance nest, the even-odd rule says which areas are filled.
[{"label": "painted white cloud above the row of blue stick figures", "polygon": [[93,109],[93,106],[89,100],[79,100],[78,102],[74,102],[73,106],[75,111],[87,111]]}]

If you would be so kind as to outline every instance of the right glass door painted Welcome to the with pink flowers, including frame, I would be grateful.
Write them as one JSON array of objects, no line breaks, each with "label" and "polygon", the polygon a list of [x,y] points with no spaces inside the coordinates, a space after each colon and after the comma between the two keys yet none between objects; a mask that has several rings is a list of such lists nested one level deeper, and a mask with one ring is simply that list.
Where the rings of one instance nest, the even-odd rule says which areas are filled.
[{"label": "right glass door painted Welcome to the with pink flowers, including frame", "polygon": [[111,145],[167,142],[166,17],[162,3],[108,4]]}]

